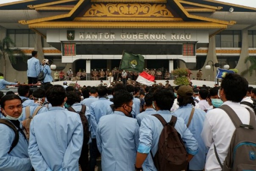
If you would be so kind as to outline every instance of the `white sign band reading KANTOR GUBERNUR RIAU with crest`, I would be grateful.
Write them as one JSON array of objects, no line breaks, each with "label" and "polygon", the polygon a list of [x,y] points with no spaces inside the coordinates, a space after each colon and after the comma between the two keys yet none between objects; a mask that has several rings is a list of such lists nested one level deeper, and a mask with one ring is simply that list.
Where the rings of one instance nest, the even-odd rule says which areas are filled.
[{"label": "white sign band reading KANTOR GUBERNUR RIAU with crest", "polygon": [[[74,33],[74,34],[73,34]],[[74,35],[73,40],[67,35]],[[117,42],[198,42],[209,43],[208,30],[47,30],[47,42],[117,41]]]}]

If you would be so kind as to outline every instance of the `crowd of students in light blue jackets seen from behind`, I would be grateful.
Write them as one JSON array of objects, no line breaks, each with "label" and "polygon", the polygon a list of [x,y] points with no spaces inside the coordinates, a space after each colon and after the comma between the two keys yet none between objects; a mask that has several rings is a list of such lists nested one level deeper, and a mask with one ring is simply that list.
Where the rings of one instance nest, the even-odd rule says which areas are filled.
[{"label": "crowd of students in light blue jackets seen from behind", "polygon": [[[18,93],[0,93],[0,117],[14,125],[19,135],[14,145],[16,133],[0,123],[3,171],[78,171],[79,165],[82,171],[94,171],[100,155],[103,171],[157,171],[154,157],[164,126],[154,114],[167,123],[177,117],[174,128],[189,161],[184,170],[221,171],[220,163],[228,154],[235,126],[219,107],[233,108],[244,124],[255,119],[250,118],[245,108],[248,106],[240,104],[253,103],[249,93],[253,97],[254,91],[237,74],[227,74],[220,87],[214,88],[116,83],[109,88],[100,85],[76,90],[47,84],[33,91],[32,96],[28,85],[20,85]],[[69,111],[70,107],[75,112]],[[28,110],[29,130],[24,129]],[[83,141],[86,126],[90,132],[88,142]]]}]

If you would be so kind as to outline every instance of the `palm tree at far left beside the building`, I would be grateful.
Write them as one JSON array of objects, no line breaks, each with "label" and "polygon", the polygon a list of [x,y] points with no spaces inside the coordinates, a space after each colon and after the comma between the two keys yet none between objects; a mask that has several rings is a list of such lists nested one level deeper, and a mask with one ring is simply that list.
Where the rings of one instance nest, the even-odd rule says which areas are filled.
[{"label": "palm tree at far left beside the building", "polygon": [[16,56],[21,56],[23,60],[26,60],[26,56],[22,50],[19,48],[10,48],[11,46],[15,46],[14,41],[5,37],[3,40],[0,40],[0,58],[3,57],[3,76],[6,76],[6,58],[9,57],[9,60],[12,64],[16,63]]}]

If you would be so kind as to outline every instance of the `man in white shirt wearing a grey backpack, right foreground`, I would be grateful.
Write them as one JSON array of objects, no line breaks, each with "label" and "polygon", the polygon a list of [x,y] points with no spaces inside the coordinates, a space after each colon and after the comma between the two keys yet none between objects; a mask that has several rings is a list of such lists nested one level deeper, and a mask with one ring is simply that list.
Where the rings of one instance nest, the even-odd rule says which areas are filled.
[{"label": "man in white shirt wearing a grey backpack, right foreground", "polygon": [[[218,92],[220,99],[224,102],[223,105],[231,107],[243,124],[250,122],[249,111],[240,105],[241,100],[246,96],[247,88],[248,81],[245,78],[237,74],[227,74],[223,78]],[[206,113],[201,133],[205,145],[210,148],[206,157],[205,171],[222,170],[214,153],[214,145],[220,162],[223,164],[235,129],[233,122],[224,110],[215,108]]]}]

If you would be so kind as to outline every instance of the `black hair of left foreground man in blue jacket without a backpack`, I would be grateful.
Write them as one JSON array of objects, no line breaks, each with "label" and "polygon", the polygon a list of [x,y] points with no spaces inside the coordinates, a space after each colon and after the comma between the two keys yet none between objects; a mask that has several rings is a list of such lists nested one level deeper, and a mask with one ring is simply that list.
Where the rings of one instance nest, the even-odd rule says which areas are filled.
[{"label": "black hair of left foreground man in blue jacket without a backpack", "polygon": [[46,91],[46,98],[52,106],[59,106],[64,102],[66,91],[62,85],[53,85]]}]

